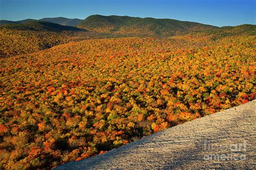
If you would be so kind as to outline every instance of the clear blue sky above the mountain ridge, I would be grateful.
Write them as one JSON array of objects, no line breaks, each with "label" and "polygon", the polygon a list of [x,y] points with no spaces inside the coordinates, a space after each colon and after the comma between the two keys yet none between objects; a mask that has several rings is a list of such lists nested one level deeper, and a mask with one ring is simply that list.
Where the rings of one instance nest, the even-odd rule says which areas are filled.
[{"label": "clear blue sky above the mountain ridge", "polygon": [[118,15],[187,20],[215,26],[256,24],[256,0],[0,0],[0,20]]}]

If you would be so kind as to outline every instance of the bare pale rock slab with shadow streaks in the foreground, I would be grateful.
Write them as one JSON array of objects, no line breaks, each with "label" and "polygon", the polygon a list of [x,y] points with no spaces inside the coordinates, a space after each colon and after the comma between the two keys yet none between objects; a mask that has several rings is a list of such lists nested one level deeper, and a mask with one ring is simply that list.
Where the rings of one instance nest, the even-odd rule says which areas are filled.
[{"label": "bare pale rock slab with shadow streaks in the foreground", "polygon": [[256,100],[56,169],[256,168]]}]

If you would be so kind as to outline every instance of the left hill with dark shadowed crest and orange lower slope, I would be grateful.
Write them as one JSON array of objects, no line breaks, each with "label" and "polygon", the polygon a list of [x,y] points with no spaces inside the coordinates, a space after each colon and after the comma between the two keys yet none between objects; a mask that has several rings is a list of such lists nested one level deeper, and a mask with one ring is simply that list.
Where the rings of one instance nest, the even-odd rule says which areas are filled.
[{"label": "left hill with dark shadowed crest and orange lower slope", "polygon": [[77,27],[38,20],[0,26],[0,58],[32,53],[69,42],[73,34],[86,34]]}]

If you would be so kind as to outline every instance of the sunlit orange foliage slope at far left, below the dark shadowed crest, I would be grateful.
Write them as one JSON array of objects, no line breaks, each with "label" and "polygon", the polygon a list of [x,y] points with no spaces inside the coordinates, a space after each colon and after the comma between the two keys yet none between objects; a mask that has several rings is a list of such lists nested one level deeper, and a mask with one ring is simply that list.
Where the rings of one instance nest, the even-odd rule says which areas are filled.
[{"label": "sunlit orange foliage slope at far left, below the dark shadowed crest", "polygon": [[69,41],[67,32],[10,30],[0,27],[0,58],[38,52]]}]

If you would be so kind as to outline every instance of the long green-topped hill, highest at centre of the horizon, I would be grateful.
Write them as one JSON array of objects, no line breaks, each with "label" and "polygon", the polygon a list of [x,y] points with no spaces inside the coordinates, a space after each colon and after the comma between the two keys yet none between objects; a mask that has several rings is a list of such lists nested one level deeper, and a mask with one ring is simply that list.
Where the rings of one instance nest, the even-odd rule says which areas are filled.
[{"label": "long green-topped hill, highest at centre of the horizon", "polygon": [[101,15],[87,17],[78,27],[96,32],[125,34],[128,36],[172,36],[174,34],[218,28],[212,25],[183,22],[174,19]]}]

